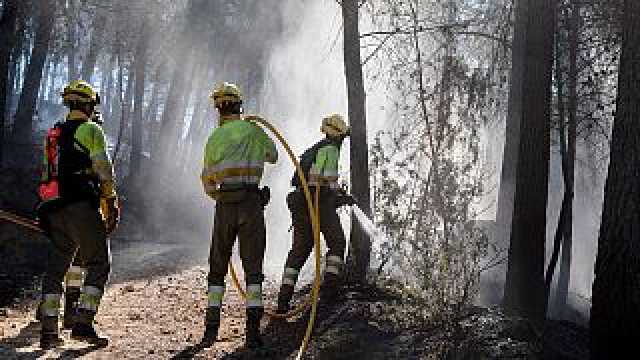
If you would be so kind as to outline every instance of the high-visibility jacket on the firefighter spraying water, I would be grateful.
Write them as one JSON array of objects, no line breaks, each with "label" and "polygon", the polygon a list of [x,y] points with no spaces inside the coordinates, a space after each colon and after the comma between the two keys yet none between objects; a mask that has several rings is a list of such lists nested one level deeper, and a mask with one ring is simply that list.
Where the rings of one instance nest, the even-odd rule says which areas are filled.
[{"label": "high-visibility jacket on the firefighter spraying water", "polygon": [[[338,163],[341,141],[324,139],[307,149],[300,157],[300,165],[309,186],[338,188]],[[293,186],[300,186],[297,173],[291,180]]]}]

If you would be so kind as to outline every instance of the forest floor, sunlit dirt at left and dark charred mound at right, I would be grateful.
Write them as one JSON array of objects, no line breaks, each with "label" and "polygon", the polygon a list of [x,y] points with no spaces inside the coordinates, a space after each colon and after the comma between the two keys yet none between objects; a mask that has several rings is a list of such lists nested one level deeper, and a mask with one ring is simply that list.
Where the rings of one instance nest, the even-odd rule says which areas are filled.
[{"label": "forest floor, sunlit dirt at left and dark charred mound at right", "polygon": [[[65,332],[64,347],[41,350],[35,300],[26,298],[0,309],[0,358],[295,358],[308,312],[288,321],[265,317],[262,330],[266,346],[262,351],[250,351],[244,348],[243,301],[232,286],[227,287],[225,295],[219,341],[207,349],[198,346],[204,330],[206,269],[190,264],[186,257],[183,266],[176,266],[181,264],[178,248],[147,246],[139,252],[127,251],[130,259],[114,257],[114,276],[97,316],[97,327],[110,337],[108,347],[96,349],[72,341]],[[165,256],[175,260],[170,267],[163,265],[167,264]],[[125,263],[127,271],[118,271],[118,264]],[[274,282],[265,282],[268,307],[274,306],[276,292]],[[422,313],[420,301],[403,294],[392,282],[347,287],[341,301],[321,306],[305,358],[585,358],[585,333],[571,325],[557,324],[562,331],[553,332],[556,335],[552,342],[560,351],[543,356],[542,347],[528,340],[531,330],[527,325],[509,320],[497,310],[470,308],[439,322],[421,320]]]}]

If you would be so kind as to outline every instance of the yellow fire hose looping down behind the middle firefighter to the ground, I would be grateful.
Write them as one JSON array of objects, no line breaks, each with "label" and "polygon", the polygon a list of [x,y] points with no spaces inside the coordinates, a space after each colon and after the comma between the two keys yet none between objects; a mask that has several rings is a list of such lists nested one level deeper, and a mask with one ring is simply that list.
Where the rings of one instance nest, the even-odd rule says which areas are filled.
[{"label": "yellow fire hose looping down behind the middle firefighter to the ground", "polygon": [[[271,133],[273,133],[273,135],[275,135],[278,141],[280,141],[284,149],[287,151],[287,154],[289,155],[291,162],[293,162],[293,165],[296,167],[296,172],[298,173],[298,177],[300,178],[300,183],[302,184],[302,188],[304,190],[304,196],[305,196],[305,199],[307,200],[307,207],[309,209],[309,216],[311,218],[311,227],[313,228],[313,243],[314,243],[314,249],[315,249],[314,251],[315,252],[315,278],[313,281],[311,296],[307,298],[305,301],[303,301],[300,305],[298,305],[295,309],[288,312],[287,314],[276,314],[273,311],[267,312],[267,314],[273,318],[290,318],[303,312],[309,305],[309,302],[311,302],[311,314],[309,316],[309,322],[307,323],[307,330],[305,332],[304,338],[302,339],[302,343],[300,344],[300,349],[298,350],[298,356],[296,357],[296,360],[300,360],[302,359],[302,355],[304,355],[309,345],[309,340],[311,339],[311,332],[313,331],[313,325],[316,319],[316,312],[318,310],[318,293],[320,291],[320,212],[318,207],[318,203],[319,203],[318,200],[320,199],[320,191],[319,191],[320,188],[316,186],[315,207],[314,207],[313,201],[311,200],[311,192],[309,191],[309,186],[307,185],[307,179],[304,176],[304,171],[302,171],[302,167],[300,166],[298,159],[296,158],[295,154],[291,150],[291,147],[289,147],[289,144],[284,139],[282,134],[278,131],[278,129],[276,129],[273,125],[271,125],[271,123],[269,123],[268,121],[266,121],[265,119],[259,116],[246,116],[245,120],[257,123],[265,127]],[[242,289],[242,286],[240,285],[240,281],[238,280],[238,276],[231,262],[229,262],[229,274],[231,275],[233,284],[238,289],[238,292],[240,293],[240,295],[244,299],[246,299],[247,294],[245,290]]]}]

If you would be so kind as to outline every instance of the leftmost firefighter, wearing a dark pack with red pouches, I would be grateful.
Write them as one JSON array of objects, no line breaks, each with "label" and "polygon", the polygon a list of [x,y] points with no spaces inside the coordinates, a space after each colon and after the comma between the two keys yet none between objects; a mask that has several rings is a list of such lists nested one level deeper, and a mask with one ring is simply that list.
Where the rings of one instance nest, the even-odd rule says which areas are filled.
[{"label": "leftmost firefighter, wearing a dark pack with red pouches", "polygon": [[61,93],[69,108],[64,122],[49,130],[45,141],[38,212],[52,242],[42,284],[40,315],[43,349],[63,343],[58,316],[65,273],[67,285],[79,285],[79,269],[69,268],[74,258],[86,267],[78,294],[71,337],[97,346],[108,339],[93,326],[110,272],[107,235],[117,226],[120,210],[107,142],[100,125],[91,121],[100,103],[98,93],[85,81],[69,83]]}]

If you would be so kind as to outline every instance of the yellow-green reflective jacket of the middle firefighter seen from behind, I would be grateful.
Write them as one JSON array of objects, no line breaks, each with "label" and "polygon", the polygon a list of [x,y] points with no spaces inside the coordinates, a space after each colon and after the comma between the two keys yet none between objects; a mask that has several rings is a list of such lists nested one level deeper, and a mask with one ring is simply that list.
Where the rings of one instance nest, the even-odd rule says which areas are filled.
[{"label": "yellow-green reflective jacket of the middle firefighter seen from behind", "polygon": [[258,185],[264,163],[275,163],[278,151],[259,126],[240,118],[221,119],[204,150],[202,185],[213,196],[220,185]]}]

